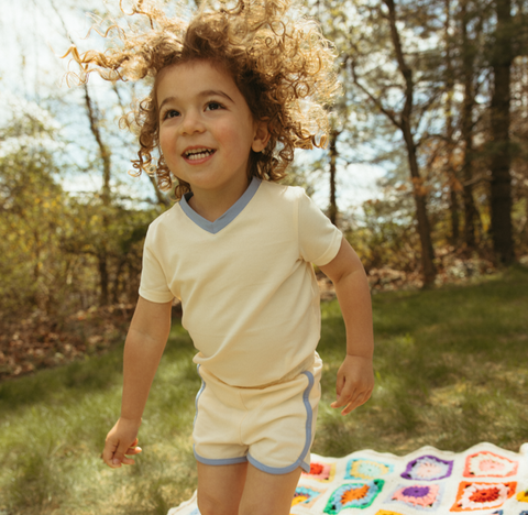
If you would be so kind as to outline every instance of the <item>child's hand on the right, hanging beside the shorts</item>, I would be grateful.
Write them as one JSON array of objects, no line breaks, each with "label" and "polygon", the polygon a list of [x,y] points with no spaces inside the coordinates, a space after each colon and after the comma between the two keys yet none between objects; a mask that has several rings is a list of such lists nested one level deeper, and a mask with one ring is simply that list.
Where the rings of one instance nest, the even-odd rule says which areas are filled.
[{"label": "child's hand on the right, hanging beside the shorts", "polygon": [[338,371],[336,386],[338,398],[330,406],[344,407],[341,415],[348,415],[358,406],[365,404],[374,390],[372,358],[346,354]]}]

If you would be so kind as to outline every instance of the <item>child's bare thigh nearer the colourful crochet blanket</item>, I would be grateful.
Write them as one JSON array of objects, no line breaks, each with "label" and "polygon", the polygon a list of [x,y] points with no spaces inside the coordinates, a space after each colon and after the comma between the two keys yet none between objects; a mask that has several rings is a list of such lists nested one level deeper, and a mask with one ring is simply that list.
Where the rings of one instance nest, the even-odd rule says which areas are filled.
[{"label": "child's bare thigh nearer the colourful crochet blanket", "polygon": [[287,474],[268,474],[248,464],[239,515],[289,515],[300,467]]}]

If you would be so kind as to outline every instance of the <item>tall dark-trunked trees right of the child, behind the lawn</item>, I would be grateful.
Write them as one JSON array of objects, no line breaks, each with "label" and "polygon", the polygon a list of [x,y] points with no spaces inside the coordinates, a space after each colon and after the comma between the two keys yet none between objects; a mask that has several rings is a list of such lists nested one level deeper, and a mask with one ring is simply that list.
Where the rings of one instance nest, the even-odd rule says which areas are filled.
[{"label": "tall dark-trunked trees right of the child, behind the lawn", "polygon": [[413,211],[424,284],[435,283],[447,245],[513,263],[526,251],[526,132],[512,122],[527,118],[526,2],[317,7],[363,129],[338,145],[382,147],[381,201]]}]

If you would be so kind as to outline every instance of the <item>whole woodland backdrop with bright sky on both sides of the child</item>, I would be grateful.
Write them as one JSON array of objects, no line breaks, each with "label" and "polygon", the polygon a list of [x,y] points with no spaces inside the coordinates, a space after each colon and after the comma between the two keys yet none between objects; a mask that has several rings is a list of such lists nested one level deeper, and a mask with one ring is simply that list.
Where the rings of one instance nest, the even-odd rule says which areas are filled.
[{"label": "whole woodland backdrop with bright sky on both sides of the child", "polygon": [[[172,205],[153,177],[127,174],[136,143],[119,119],[147,85],[58,86],[67,66],[58,56],[70,44],[109,44],[84,36],[94,21],[105,32],[119,2],[21,0],[11,14],[7,3],[0,380],[122,341],[146,228]],[[327,213],[372,289],[431,287],[526,261],[528,1],[305,3],[336,44],[343,95],[328,149],[302,152],[289,182],[309,194],[324,183]],[[187,15],[197,7],[183,6]],[[384,175],[375,199],[348,210],[340,184],[354,165]]]}]

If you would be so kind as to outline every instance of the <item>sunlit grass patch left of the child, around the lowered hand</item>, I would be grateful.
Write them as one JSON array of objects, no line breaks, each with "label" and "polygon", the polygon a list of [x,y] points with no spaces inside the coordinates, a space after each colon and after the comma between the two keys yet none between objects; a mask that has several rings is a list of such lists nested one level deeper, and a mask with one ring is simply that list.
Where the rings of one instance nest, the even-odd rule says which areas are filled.
[{"label": "sunlit grass patch left of the child, around the lowered hand", "polygon": [[194,352],[175,322],[140,430],[143,453],[119,470],[99,454],[119,416],[122,348],[2,384],[0,513],[162,514],[190,496]]}]

